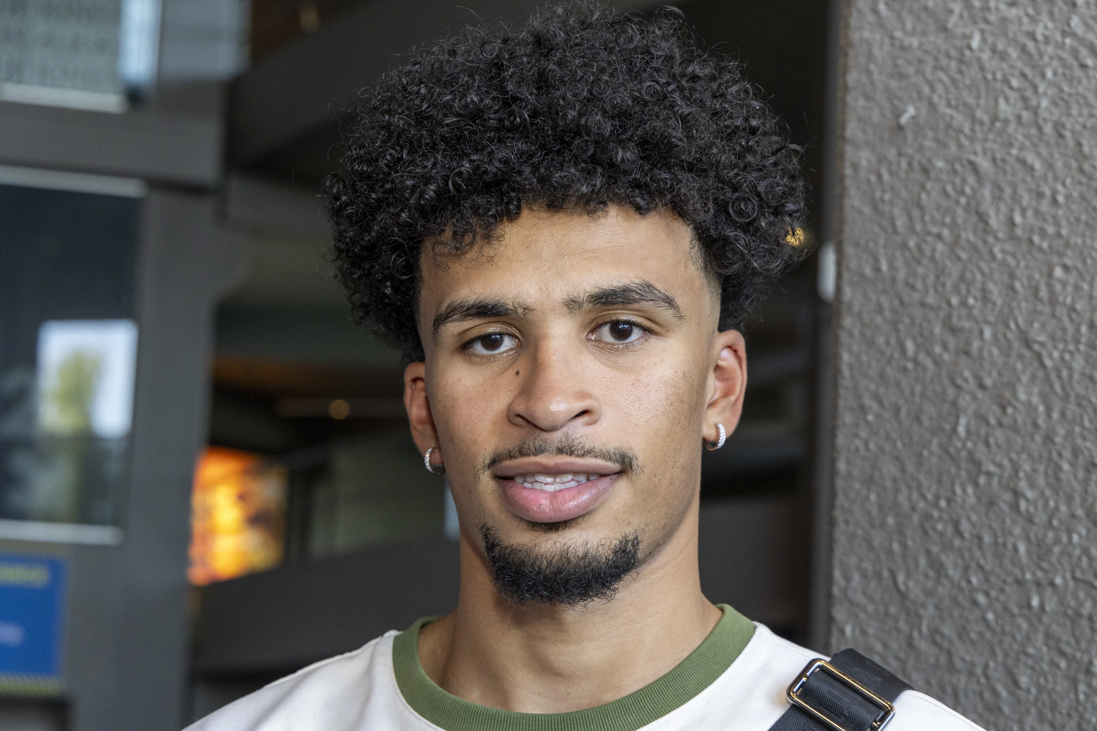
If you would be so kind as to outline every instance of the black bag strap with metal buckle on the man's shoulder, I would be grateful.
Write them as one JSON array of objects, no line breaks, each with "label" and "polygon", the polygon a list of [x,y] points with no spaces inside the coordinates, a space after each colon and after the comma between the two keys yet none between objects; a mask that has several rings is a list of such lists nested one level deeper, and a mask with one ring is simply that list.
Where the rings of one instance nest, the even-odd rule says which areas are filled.
[{"label": "black bag strap with metal buckle on the man's shoulder", "polygon": [[826,662],[817,658],[789,686],[789,710],[770,731],[880,731],[895,713],[898,695],[911,689],[856,650]]}]

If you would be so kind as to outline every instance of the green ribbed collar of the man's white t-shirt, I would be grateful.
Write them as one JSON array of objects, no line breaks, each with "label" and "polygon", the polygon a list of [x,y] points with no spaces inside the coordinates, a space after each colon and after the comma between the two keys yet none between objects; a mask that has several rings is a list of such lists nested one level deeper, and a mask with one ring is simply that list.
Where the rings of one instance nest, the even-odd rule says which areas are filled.
[{"label": "green ribbed collar of the man's white t-shirt", "polygon": [[419,663],[419,630],[437,617],[423,617],[393,640],[396,684],[417,713],[445,731],[635,731],[712,685],[750,641],[755,629],[750,620],[726,604],[717,606],[724,616],[686,660],[654,683],[603,706],[567,713],[520,713],[450,695],[427,677]]}]

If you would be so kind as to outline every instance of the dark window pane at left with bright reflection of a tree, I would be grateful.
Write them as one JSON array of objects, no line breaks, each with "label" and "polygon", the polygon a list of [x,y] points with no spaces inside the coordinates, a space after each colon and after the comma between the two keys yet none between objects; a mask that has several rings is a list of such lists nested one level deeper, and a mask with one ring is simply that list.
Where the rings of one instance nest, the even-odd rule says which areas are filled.
[{"label": "dark window pane at left with bright reflection of a tree", "polygon": [[139,206],[0,185],[0,519],[122,524]]}]

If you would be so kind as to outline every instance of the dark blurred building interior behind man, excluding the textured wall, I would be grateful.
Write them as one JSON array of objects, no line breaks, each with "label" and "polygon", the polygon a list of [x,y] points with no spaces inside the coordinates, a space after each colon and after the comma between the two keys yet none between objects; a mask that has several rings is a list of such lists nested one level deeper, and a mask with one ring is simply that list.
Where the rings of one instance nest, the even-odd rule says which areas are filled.
[{"label": "dark blurred building interior behind man, excluding the textured wall", "polygon": [[[0,730],[178,729],[453,606],[452,502],[398,353],[332,278],[319,185],[394,58],[533,5],[0,2]],[[679,3],[806,151],[816,253],[748,328],[743,421],[701,487],[708,596],[801,643],[826,5]]]}]

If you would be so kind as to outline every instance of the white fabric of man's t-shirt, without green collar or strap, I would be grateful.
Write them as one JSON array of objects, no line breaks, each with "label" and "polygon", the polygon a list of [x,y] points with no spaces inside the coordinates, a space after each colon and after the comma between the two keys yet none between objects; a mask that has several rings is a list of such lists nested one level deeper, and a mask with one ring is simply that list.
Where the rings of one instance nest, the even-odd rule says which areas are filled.
[{"label": "white fabric of man's t-shirt, without green collar or strap", "polygon": [[[724,610],[728,613],[727,608]],[[743,619],[737,613],[736,617]],[[408,631],[414,630],[417,637],[419,625],[417,623]],[[722,625],[725,621],[722,620],[717,627]],[[618,717],[614,722],[603,724],[591,721],[589,716],[583,721],[575,715],[566,713],[552,715],[562,719],[558,723],[544,717],[541,722],[531,722],[528,717],[541,715],[475,706],[449,696],[433,684],[430,694],[436,700],[441,699],[441,705],[436,703],[433,710],[427,710],[422,701],[419,704],[426,715],[432,716],[442,726],[431,722],[417,712],[400,693],[393,653],[393,642],[398,636],[396,631],[386,632],[359,650],[318,662],[275,681],[185,731],[490,731],[521,727],[598,731],[599,728],[630,728]],[[665,715],[631,728],[644,731],[768,731],[789,707],[785,699],[789,684],[807,662],[819,655],[781,639],[762,625],[755,625],[753,632],[747,625],[746,637],[749,640],[744,638],[746,644],[740,646],[735,660],[706,687]],[[417,641],[412,647],[418,647]],[[430,683],[421,674],[418,658],[414,663],[421,675],[420,682]],[[407,687],[406,682],[404,687]],[[629,698],[626,696],[612,705],[627,705]],[[456,712],[443,718],[439,713],[449,711],[439,711],[439,708],[455,708]],[[580,715],[586,712],[576,711]],[[886,731],[982,730],[932,698],[907,690],[896,699],[895,716]]]}]

